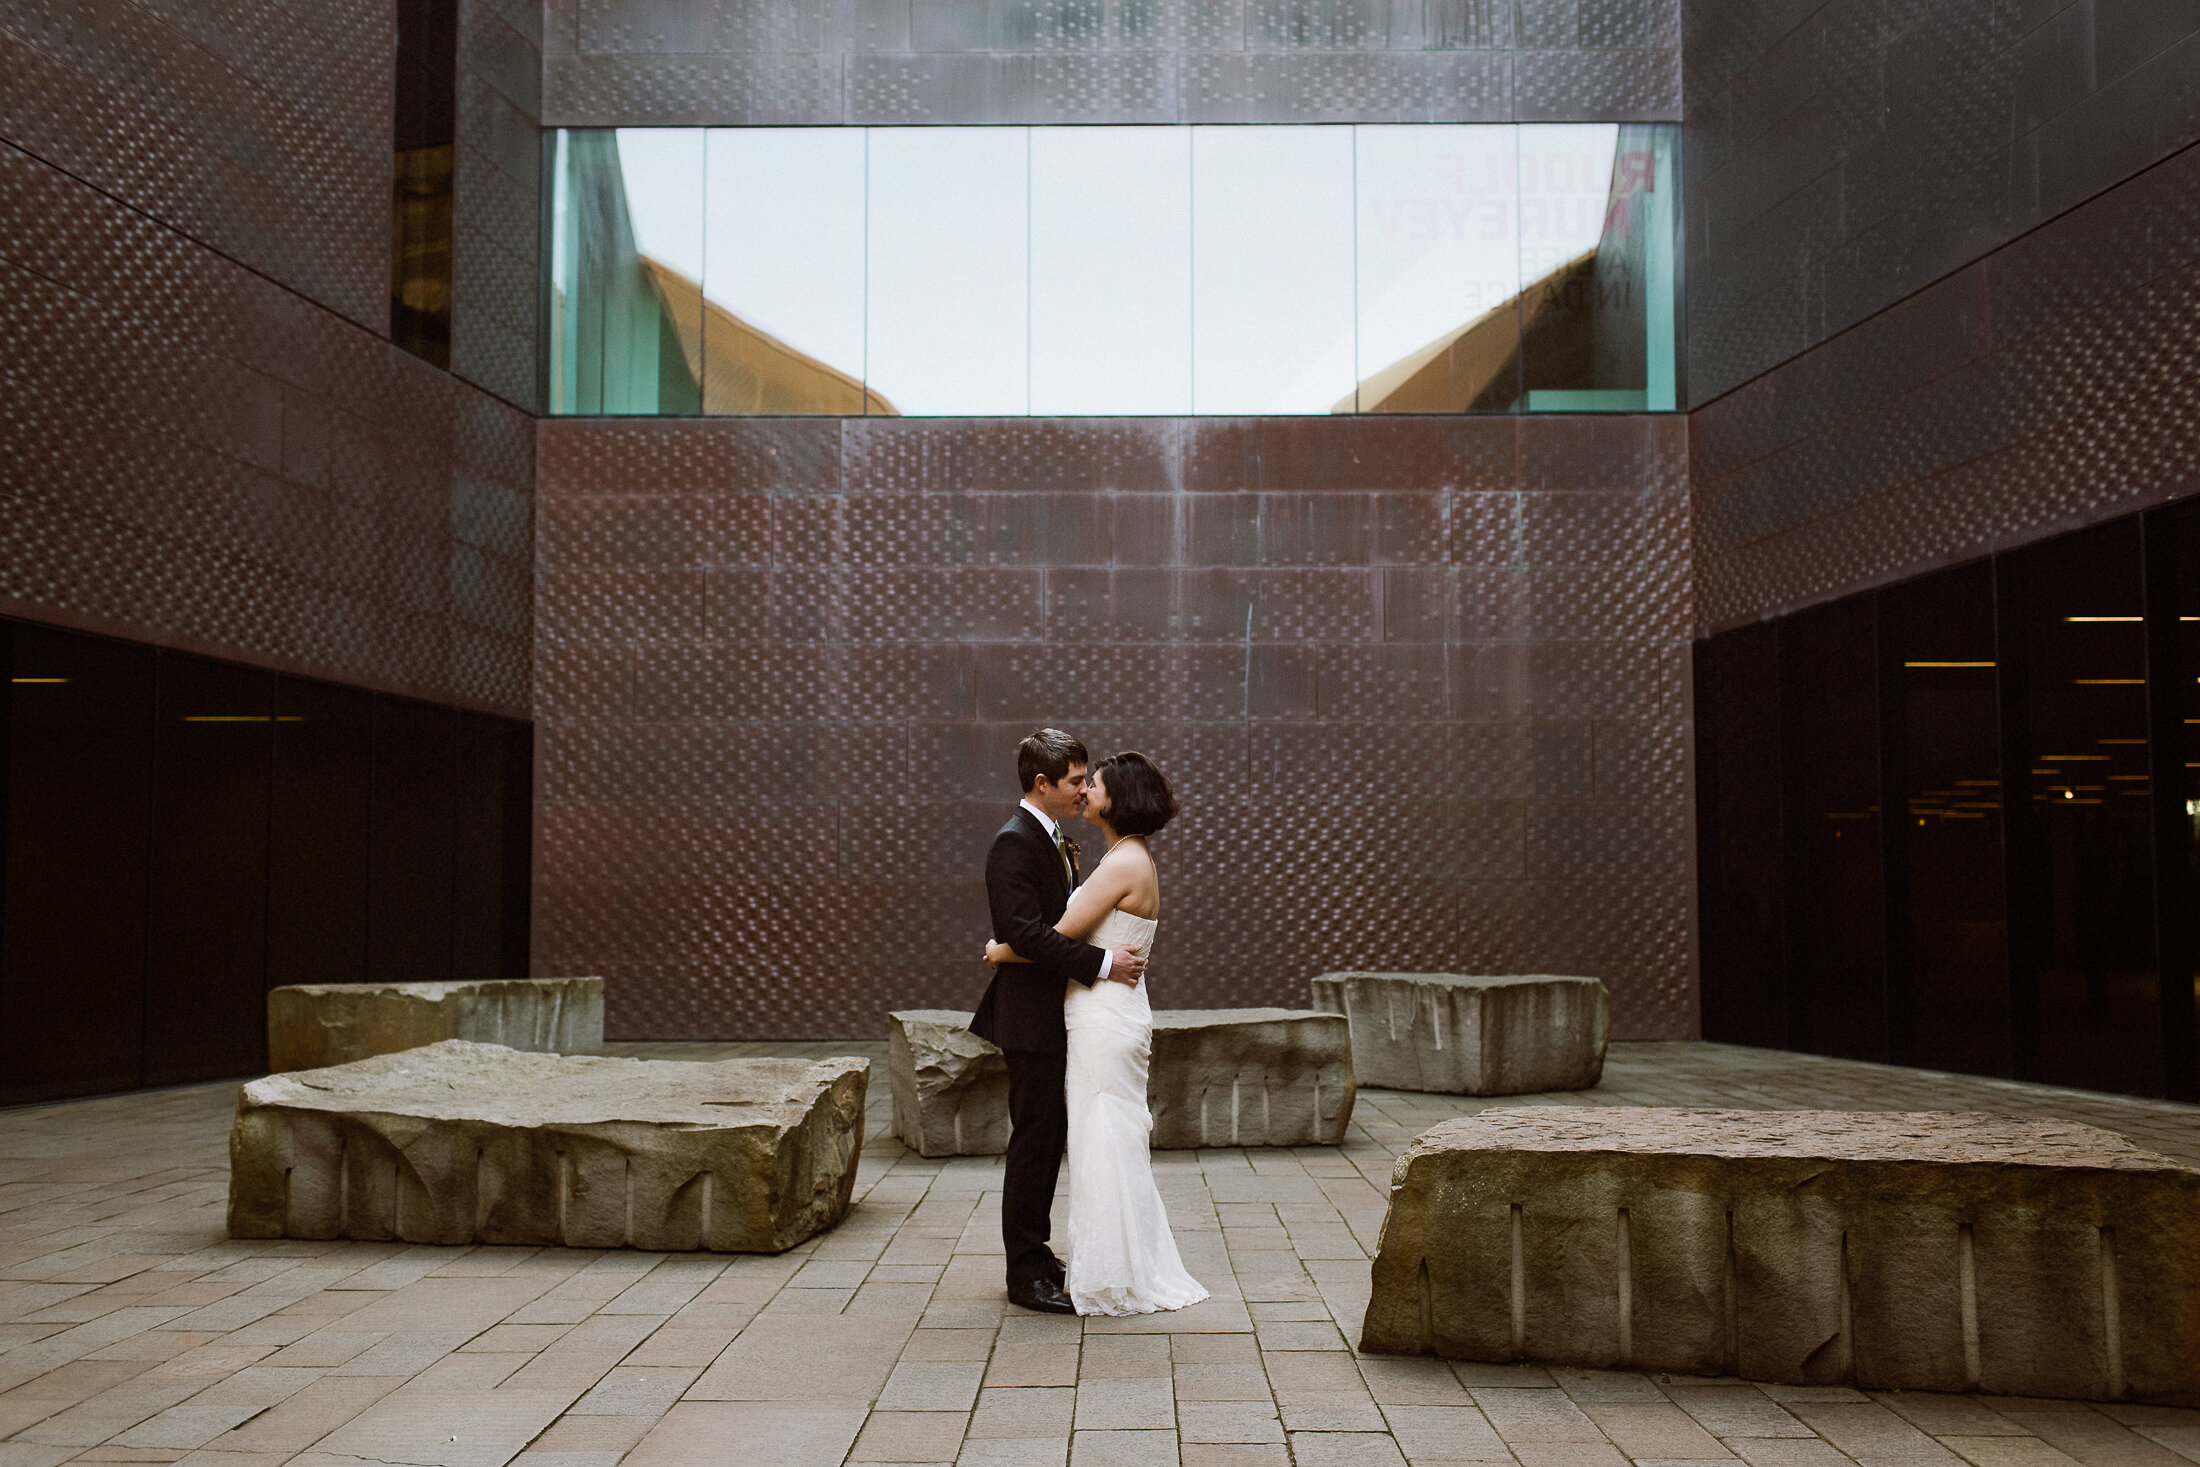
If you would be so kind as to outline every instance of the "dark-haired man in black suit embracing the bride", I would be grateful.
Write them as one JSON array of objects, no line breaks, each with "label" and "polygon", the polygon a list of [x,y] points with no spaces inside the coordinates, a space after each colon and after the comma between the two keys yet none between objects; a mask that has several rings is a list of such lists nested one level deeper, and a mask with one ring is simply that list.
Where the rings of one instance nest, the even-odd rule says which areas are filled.
[{"label": "dark-haired man in black suit embracing the bride", "polygon": [[1137,983],[1146,970],[1137,948],[1093,948],[1054,930],[1080,880],[1078,847],[1063,820],[1085,809],[1085,746],[1060,728],[1041,728],[1016,746],[1023,803],[986,853],[986,902],[994,941],[1027,961],[994,968],[970,1018],[970,1032],[1008,1058],[1010,1133],[1001,1183],[1008,1298],[1058,1315],[1076,1313],[1063,1291],[1063,1262],[1047,1247],[1047,1212],[1069,1139],[1063,985]]}]

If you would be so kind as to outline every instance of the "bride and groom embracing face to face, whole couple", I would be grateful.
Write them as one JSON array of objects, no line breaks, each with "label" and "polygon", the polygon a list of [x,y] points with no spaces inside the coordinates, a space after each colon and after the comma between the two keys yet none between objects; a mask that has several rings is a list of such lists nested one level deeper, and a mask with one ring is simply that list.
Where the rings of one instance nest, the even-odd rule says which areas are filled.
[{"label": "bride and groom embracing face to face, whole couple", "polygon": [[[1146,838],[1177,814],[1177,796],[1144,754],[1087,763],[1085,746],[1058,728],[1016,746],[1023,803],[986,856],[994,977],[970,1032],[1008,1058],[1001,1243],[1010,1302],[1133,1315],[1208,1298],[1177,1256],[1146,1150],[1153,1010],[1144,977],[1162,915]],[[1069,816],[1107,836],[1091,875],[1063,831]],[[1065,1141],[1067,1267],[1047,1245]]]}]

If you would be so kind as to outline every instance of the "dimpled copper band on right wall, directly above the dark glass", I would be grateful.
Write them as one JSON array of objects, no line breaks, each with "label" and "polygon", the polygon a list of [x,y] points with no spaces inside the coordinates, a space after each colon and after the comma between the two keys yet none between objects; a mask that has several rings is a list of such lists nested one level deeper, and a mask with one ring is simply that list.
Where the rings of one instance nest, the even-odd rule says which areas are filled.
[{"label": "dimpled copper band on right wall, directly above the dark glass", "polygon": [[2196,380],[2185,150],[1698,409],[1698,627],[2193,493]]}]

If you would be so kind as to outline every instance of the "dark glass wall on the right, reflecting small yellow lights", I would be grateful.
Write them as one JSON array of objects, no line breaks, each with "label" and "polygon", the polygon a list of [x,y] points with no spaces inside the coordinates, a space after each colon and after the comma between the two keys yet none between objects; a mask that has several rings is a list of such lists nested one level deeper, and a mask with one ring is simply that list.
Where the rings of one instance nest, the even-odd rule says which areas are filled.
[{"label": "dark glass wall on the right, reflecting small yellow lights", "polygon": [[2180,504],[1701,642],[1705,1038],[2196,1098],[2193,565]]}]

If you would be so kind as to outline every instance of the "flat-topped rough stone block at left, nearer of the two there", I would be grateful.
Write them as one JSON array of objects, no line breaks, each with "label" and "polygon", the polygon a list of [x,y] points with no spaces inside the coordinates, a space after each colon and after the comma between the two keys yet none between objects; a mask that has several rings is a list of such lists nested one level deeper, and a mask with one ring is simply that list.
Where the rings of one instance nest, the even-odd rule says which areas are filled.
[{"label": "flat-topped rough stone block at left, nearer of the two there", "polygon": [[253,1080],[233,1238],[777,1254],[847,1212],[869,1060],[612,1060],[444,1040]]}]

